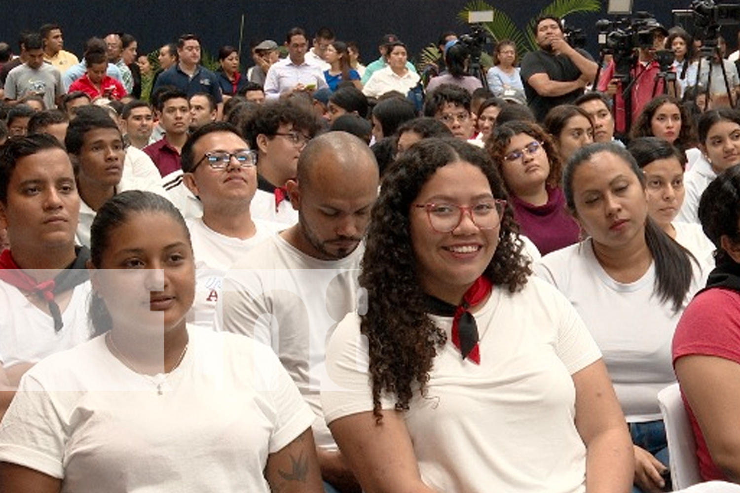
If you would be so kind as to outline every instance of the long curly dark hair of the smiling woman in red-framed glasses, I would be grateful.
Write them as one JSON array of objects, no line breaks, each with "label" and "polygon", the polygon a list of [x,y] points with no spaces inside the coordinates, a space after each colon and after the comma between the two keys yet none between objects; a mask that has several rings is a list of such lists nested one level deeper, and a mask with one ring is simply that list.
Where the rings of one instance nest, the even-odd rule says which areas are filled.
[{"label": "long curly dark hair of the smiling woman in red-framed glasses", "polygon": [[[431,137],[416,143],[388,169],[375,203],[366,237],[360,285],[367,290],[368,309],[361,331],[369,341],[373,412],[380,421],[380,395],[396,395],[396,409],[407,410],[415,385],[425,395],[437,349],[445,332],[425,313],[414,247],[411,244],[411,204],[437,169],[464,161],[481,169],[494,197],[506,192],[496,167],[481,149],[450,137]],[[519,225],[506,207],[499,245],[483,273],[511,293],[520,290],[531,274],[522,256]]]}]

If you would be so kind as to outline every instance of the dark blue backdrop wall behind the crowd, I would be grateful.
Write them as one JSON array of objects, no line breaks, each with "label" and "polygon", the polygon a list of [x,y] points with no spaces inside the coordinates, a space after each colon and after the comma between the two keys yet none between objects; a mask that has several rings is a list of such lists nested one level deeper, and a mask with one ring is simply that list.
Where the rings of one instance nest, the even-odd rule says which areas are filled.
[{"label": "dark blue backdrop wall behind the crowd", "polygon": [[[411,55],[444,30],[465,32],[457,13],[467,0],[19,0],[4,1],[0,16],[0,40],[16,46],[18,33],[38,29],[54,21],[64,28],[65,47],[80,55],[85,38],[111,31],[132,33],[140,52],[151,51],[174,41],[181,33],[198,33],[204,48],[215,54],[223,44],[237,46],[241,18],[244,18],[243,52],[249,44],[264,38],[283,42],[284,33],[300,26],[309,33],[326,25],[337,38],[354,40],[360,45],[364,61],[377,58],[377,44],[385,33],[395,33],[406,41]],[[528,20],[550,1],[491,0],[524,28]],[[687,8],[690,0],[634,0],[633,10],[648,10],[667,26],[672,24],[670,10]],[[602,13],[577,14],[569,24],[582,27],[588,34],[587,49],[597,55],[596,29],[593,24],[606,16]],[[724,37],[735,47],[736,29],[724,28]],[[249,61],[242,57],[242,61]]]}]

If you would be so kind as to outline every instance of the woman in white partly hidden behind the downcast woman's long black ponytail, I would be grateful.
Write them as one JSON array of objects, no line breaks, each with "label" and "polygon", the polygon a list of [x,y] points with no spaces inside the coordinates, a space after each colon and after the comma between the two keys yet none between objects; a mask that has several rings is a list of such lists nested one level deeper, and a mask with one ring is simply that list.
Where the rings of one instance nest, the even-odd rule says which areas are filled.
[{"label": "woman in white partly hidden behind the downcast woman's long black ponytail", "polygon": [[696,222],[676,221],[684,202],[686,154],[659,137],[639,137],[627,150],[645,175],[647,212],[665,233],[679,242],[710,271],[714,265],[714,245]]}]

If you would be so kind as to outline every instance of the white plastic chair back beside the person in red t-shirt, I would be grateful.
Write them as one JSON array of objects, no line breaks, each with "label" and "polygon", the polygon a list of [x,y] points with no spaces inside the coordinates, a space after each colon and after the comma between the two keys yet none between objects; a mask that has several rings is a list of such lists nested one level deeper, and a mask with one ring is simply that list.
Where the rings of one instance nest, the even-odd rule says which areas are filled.
[{"label": "white plastic chair back beside the person in red t-shirt", "polygon": [[689,415],[681,399],[679,384],[671,384],[658,392],[658,404],[665,423],[673,489],[684,489],[701,483],[699,459],[696,458],[696,441]]}]

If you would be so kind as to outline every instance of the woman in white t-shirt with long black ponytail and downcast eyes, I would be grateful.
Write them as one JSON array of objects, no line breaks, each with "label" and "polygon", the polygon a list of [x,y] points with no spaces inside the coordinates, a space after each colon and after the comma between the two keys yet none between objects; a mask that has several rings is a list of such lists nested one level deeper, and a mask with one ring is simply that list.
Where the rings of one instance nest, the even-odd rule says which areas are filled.
[{"label": "woman in white t-shirt with long black ponytail and downcast eyes", "polygon": [[563,191],[588,239],[543,256],[535,272],[576,307],[604,355],[634,444],[633,493],[660,491],[668,449],[657,395],[676,381],[670,341],[706,273],[650,218],[645,176],[621,146],[573,154]]}]

